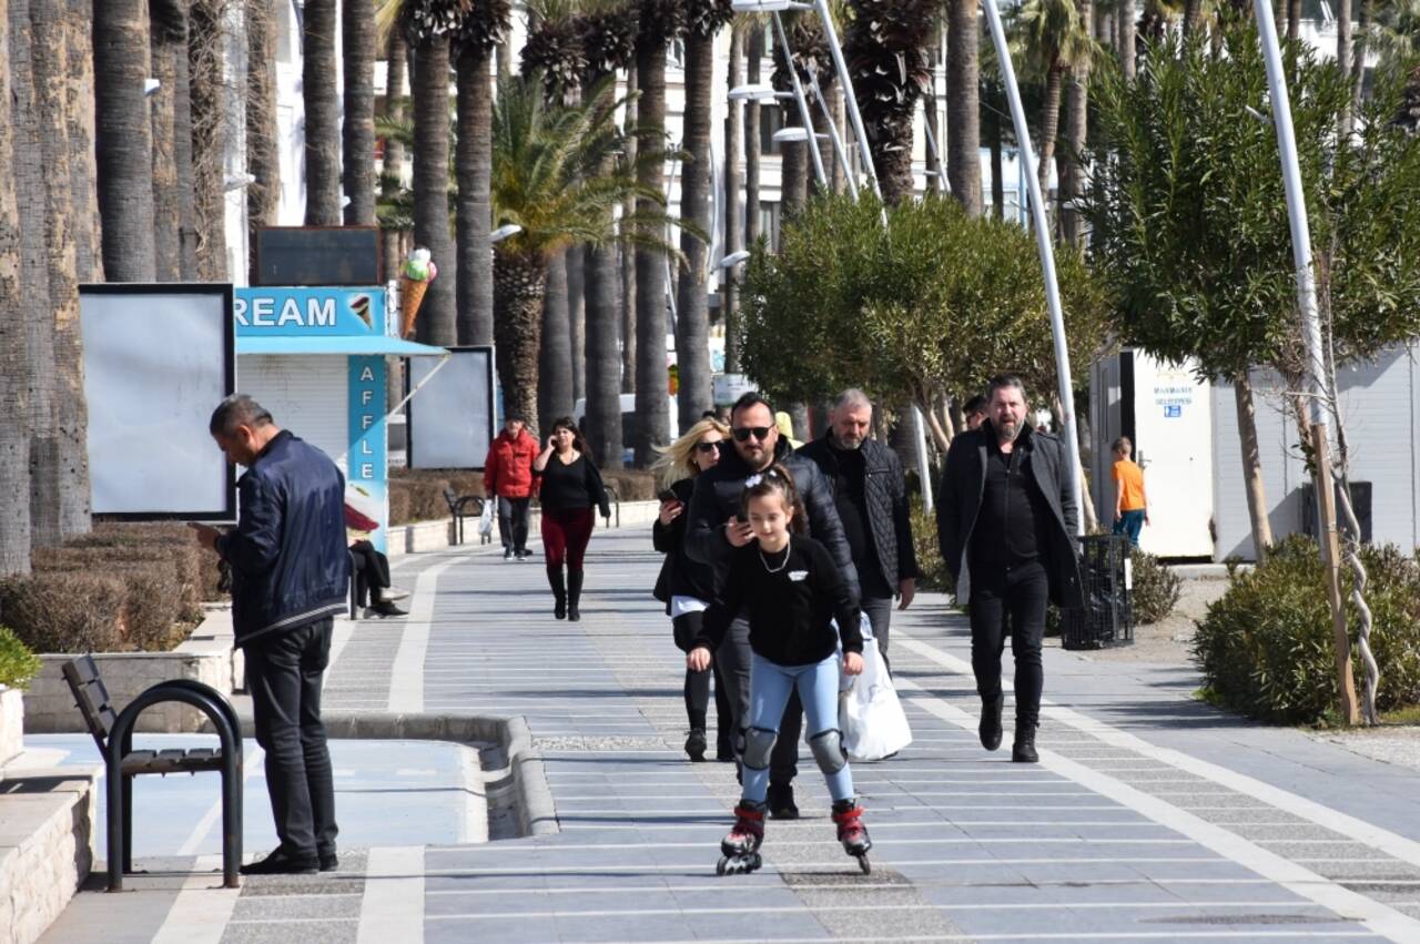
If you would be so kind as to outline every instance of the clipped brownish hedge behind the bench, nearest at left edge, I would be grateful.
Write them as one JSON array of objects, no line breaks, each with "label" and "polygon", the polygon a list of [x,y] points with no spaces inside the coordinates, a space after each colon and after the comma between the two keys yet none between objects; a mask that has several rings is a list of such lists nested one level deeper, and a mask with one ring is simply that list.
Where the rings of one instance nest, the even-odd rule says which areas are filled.
[{"label": "clipped brownish hedge behind the bench, nearest at left edge", "polygon": [[0,581],[0,619],[40,653],[124,646],[124,582],[97,573],[30,573]]}]

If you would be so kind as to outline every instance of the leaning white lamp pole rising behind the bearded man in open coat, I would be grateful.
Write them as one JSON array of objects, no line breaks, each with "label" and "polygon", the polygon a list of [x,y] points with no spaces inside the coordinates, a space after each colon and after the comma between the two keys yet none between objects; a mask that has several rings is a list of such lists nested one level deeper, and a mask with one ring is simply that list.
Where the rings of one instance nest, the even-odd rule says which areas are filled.
[{"label": "leaning white lamp pole rising behind the bearded man in open coat", "polygon": [[[822,0],[819,0],[822,1]],[[1261,1],[1261,0],[1258,0]],[[1025,124],[1025,109],[1021,106],[1021,88],[1015,84],[1015,67],[1011,64],[1011,50],[1005,44],[1005,28],[1001,26],[1001,10],[995,0],[981,0],[995,57],[1001,62],[1001,84],[1005,85],[1011,102],[1011,122],[1015,125],[1015,141],[1022,155],[1031,153],[1031,131]],[[1272,16],[1268,10],[1268,16]],[[1022,158],[1024,159],[1024,158]],[[1055,341],[1055,373],[1059,378],[1061,437],[1065,440],[1065,456],[1069,461],[1069,485],[1075,498],[1076,532],[1085,534],[1083,497],[1079,481],[1079,440],[1075,437],[1075,390],[1071,388],[1069,348],[1065,345],[1065,314],[1061,309],[1059,284],[1055,280],[1055,247],[1051,244],[1049,220],[1045,219],[1045,199],[1041,183],[1034,173],[1027,173],[1025,185],[1031,194],[1031,216],[1035,220],[1035,246],[1041,254],[1041,271],[1045,275],[1045,304],[1051,311],[1051,336]]]}]

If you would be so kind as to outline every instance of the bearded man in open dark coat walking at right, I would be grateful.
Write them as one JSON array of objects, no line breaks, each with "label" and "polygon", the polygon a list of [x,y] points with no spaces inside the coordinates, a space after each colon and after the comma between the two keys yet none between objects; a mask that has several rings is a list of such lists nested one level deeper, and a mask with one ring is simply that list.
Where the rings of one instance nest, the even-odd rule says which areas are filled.
[{"label": "bearded man in open dark coat walking at right", "polygon": [[1001,650],[1015,659],[1011,759],[1034,764],[1041,715],[1041,639],[1047,599],[1082,606],[1076,551],[1079,511],[1061,441],[1027,422],[1020,378],[993,378],[987,420],[947,450],[937,503],[941,559],[970,605],[971,670],[981,696],[981,747],[1001,747]]}]

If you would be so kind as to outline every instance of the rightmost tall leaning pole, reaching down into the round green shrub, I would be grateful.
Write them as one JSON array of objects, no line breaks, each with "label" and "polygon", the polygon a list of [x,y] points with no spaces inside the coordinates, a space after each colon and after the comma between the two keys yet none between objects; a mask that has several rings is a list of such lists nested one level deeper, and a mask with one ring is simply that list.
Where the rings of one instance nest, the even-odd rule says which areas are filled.
[{"label": "rightmost tall leaning pole, reaching down into the round green shrub", "polygon": [[1287,217],[1292,230],[1292,265],[1296,268],[1296,308],[1302,314],[1302,339],[1306,342],[1306,393],[1311,402],[1311,437],[1315,459],[1314,484],[1316,491],[1318,534],[1322,561],[1326,565],[1326,598],[1332,612],[1332,636],[1336,656],[1336,680],[1340,711],[1346,724],[1356,724],[1360,711],[1356,704],[1356,680],[1350,667],[1350,635],[1346,629],[1346,608],[1340,596],[1340,548],[1336,539],[1336,505],[1331,477],[1331,437],[1326,432],[1326,368],[1322,359],[1322,328],[1316,317],[1316,282],[1312,275],[1312,234],[1306,220],[1306,194],[1302,190],[1302,170],[1296,159],[1296,132],[1292,129],[1292,102],[1282,70],[1282,48],[1277,40],[1272,7],[1267,0],[1252,0],[1258,40],[1267,62],[1267,87],[1272,99],[1272,126],[1277,129],[1277,149],[1282,158],[1282,187],[1287,192]]}]

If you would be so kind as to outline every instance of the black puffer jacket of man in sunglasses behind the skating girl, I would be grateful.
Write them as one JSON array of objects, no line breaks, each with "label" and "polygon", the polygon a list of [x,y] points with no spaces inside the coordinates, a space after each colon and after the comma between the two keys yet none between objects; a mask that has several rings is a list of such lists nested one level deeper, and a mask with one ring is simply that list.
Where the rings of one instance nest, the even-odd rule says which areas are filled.
[{"label": "black puffer jacket of man in sunglasses behind the skating girl", "polygon": [[[799,501],[808,514],[808,534],[828,548],[842,571],[843,582],[852,591],[853,603],[859,600],[858,569],[853,566],[843,535],[843,522],[838,520],[838,505],[834,504],[834,490],[811,460],[790,450],[782,437],[774,447],[774,461],[781,463],[794,476]],[[709,564],[716,571],[716,579],[724,581],[730,571],[734,547],[724,537],[724,522],[740,514],[740,498],[744,494],[744,480],[753,476],[748,464],[731,443],[720,461],[710,470],[696,476],[696,490],[690,497],[690,521],[686,522],[686,554],[693,561]]]}]

